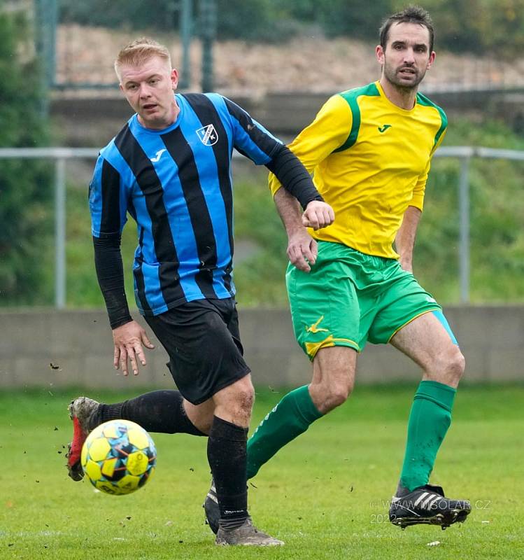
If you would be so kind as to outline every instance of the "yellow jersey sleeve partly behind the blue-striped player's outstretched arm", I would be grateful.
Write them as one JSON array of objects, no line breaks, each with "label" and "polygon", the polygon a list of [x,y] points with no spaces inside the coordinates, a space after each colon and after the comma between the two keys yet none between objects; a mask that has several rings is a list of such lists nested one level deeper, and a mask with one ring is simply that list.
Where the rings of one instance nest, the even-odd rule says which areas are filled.
[{"label": "yellow jersey sleeve partly behind the blue-striped player's outstretched arm", "polygon": [[[350,107],[344,97],[337,94],[325,102],[315,120],[308,125],[288,146],[304,164],[309,174],[348,139],[353,124]],[[271,194],[281,188],[274,174],[269,174]]]}]

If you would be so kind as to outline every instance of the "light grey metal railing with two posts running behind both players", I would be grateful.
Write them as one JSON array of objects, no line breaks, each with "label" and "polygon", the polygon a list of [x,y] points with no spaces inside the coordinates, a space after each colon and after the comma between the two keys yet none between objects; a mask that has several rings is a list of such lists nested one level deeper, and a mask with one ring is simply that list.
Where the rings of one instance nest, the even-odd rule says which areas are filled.
[{"label": "light grey metal railing with two posts running behind both players", "polygon": [[[1,159],[48,159],[55,162],[55,307],[66,307],[66,162],[97,158],[98,148],[0,148]],[[241,157],[234,153],[234,157]],[[439,148],[435,158],[460,160],[458,181],[460,302],[469,303],[469,165],[472,158],[524,161],[524,151],[449,146]]]}]

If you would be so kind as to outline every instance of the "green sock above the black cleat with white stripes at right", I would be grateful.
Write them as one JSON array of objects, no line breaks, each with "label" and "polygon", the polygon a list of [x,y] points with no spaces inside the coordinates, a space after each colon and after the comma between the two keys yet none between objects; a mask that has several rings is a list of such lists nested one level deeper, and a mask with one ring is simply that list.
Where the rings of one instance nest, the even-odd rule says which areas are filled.
[{"label": "green sock above the black cleat with white stripes at right", "polygon": [[412,491],[430,480],[435,457],[451,423],[456,389],[420,381],[409,414],[406,455],[400,484]]}]

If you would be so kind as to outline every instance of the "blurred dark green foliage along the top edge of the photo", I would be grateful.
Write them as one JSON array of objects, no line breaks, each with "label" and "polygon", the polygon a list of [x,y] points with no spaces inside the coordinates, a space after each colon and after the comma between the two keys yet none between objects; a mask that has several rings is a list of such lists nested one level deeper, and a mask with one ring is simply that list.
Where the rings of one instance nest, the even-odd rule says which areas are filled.
[{"label": "blurred dark green foliage along the top edge of the photo", "polygon": [[[413,2],[417,3],[417,2]],[[524,0],[425,0],[441,48],[512,55],[524,47]],[[157,13],[176,13],[173,0],[62,0],[62,21],[134,29],[173,27]],[[375,39],[398,0],[217,0],[219,39],[281,42],[321,30],[328,37]]]}]

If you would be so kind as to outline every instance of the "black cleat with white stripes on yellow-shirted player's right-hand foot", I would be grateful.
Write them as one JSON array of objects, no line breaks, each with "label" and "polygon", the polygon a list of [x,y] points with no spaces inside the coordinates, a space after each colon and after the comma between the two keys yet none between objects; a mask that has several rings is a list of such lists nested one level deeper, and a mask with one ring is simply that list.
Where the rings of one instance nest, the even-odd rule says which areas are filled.
[{"label": "black cleat with white stripes on yellow-shirted player's right-hand foot", "polygon": [[468,500],[450,500],[441,486],[426,484],[405,496],[393,496],[390,521],[404,529],[410,525],[439,525],[444,530],[462,523],[472,510]]}]

